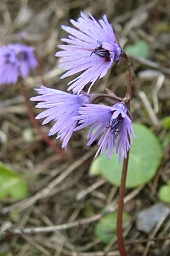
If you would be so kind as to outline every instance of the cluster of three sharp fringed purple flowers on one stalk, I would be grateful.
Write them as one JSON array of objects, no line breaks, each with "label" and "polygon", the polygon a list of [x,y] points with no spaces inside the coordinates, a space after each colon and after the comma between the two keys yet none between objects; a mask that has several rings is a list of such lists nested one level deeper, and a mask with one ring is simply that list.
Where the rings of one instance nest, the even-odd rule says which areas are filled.
[{"label": "cluster of three sharp fringed purple flowers on one stalk", "polygon": [[[104,154],[107,148],[108,159],[116,152],[120,162],[123,152],[127,158],[132,143],[131,134],[134,135],[129,110],[124,102],[113,106],[95,104],[90,89],[98,78],[106,75],[113,62],[120,60],[121,47],[115,40],[106,15],[97,22],[91,14],[88,18],[81,13],[77,21],[71,19],[70,22],[75,28],[62,26],[70,35],[62,39],[67,45],[59,45],[62,51],[56,53],[57,57],[61,57],[59,67],[66,69],[61,78],[82,73],[69,82],[68,90],[73,90],[74,94],[45,86],[36,89],[41,95],[32,97],[31,101],[41,101],[36,108],[46,109],[36,119],[45,118],[42,125],[54,121],[49,135],[57,134],[56,139],[63,141],[62,148],[66,148],[74,131],[91,125],[87,146],[100,137],[95,158],[99,152]],[[85,93],[82,89],[87,84],[90,86]]]}]

